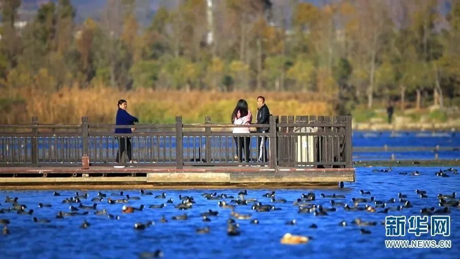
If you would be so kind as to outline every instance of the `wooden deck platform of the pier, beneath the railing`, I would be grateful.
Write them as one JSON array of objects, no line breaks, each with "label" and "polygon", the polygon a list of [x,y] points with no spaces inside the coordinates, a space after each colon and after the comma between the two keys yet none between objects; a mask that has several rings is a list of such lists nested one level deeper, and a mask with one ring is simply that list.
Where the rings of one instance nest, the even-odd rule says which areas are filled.
[{"label": "wooden deck platform of the pier, beneath the railing", "polygon": [[0,188],[224,188],[337,186],[354,182],[354,168],[253,166],[114,168],[0,167]]}]

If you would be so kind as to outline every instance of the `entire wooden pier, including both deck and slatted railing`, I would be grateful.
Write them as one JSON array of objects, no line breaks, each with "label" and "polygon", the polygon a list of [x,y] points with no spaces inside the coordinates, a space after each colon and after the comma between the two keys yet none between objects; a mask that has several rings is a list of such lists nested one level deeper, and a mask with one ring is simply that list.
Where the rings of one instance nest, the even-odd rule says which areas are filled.
[{"label": "entire wooden pier, including both deck and slatted railing", "polygon": [[[34,117],[32,124],[0,125],[0,189],[338,186],[355,181],[351,121],[270,116],[269,124],[233,125],[206,117],[204,124],[184,124],[177,116],[174,124],[137,124],[133,134],[115,134],[130,125],[92,124],[87,117],[81,124],[39,124]],[[267,126],[269,132],[231,132]],[[251,144],[236,144],[235,137]],[[117,153],[128,139],[140,161],[134,167]],[[235,157],[238,149],[248,154],[245,161]]]}]

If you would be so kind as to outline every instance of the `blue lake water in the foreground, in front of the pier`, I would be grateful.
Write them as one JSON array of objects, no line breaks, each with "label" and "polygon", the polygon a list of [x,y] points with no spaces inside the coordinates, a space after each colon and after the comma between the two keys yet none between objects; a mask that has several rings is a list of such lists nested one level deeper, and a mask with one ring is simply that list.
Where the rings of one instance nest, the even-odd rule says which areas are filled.
[{"label": "blue lake water in the foreground, in front of the pier", "polygon": [[[458,258],[460,253],[460,209],[450,208],[450,236],[434,236],[422,234],[416,238],[414,234],[407,233],[399,239],[407,240],[450,240],[450,249],[387,249],[384,240],[398,238],[385,238],[385,226],[381,222],[386,215],[420,215],[420,210],[425,207],[440,208],[436,196],[438,193],[450,194],[460,192],[460,175],[447,172],[450,177],[435,176],[439,167],[399,167],[390,172],[373,171],[382,168],[357,168],[356,182],[345,183],[345,188],[314,188],[314,189],[274,189],[277,199],[286,199],[287,203],[276,203],[281,210],[269,212],[256,212],[251,205],[237,205],[235,211],[250,213],[251,219],[257,219],[260,224],[250,224],[250,220],[236,220],[239,224],[240,235],[227,235],[227,220],[230,210],[217,205],[218,200],[206,200],[201,196],[205,192],[237,196],[240,189],[215,189],[215,190],[170,190],[166,189],[166,198],[172,198],[174,204],[180,202],[179,195],[193,196],[191,209],[179,210],[172,204],[167,204],[162,209],[148,208],[151,204],[161,204],[167,199],[154,199],[153,196],[140,196],[138,189],[123,190],[124,194],[139,196],[140,200],[130,200],[127,204],[108,204],[107,201],[98,202],[99,210],[106,209],[108,213],[120,215],[119,220],[108,219],[104,215],[95,215],[94,210],[87,215],[76,215],[56,219],[58,211],[70,212],[69,206],[78,204],[62,204],[64,198],[75,196],[74,190],[57,190],[61,196],[53,196],[52,190],[28,191],[0,191],[0,208],[9,208],[11,203],[5,203],[4,197],[18,197],[19,204],[27,205],[26,210],[33,209],[33,215],[5,212],[0,214],[0,219],[8,219],[10,234],[0,235],[0,251],[2,258],[139,258],[142,252],[152,252],[161,249],[165,258]],[[443,168],[446,169],[446,168]],[[411,176],[414,170],[421,172],[420,176]],[[407,172],[407,175],[400,175]],[[371,195],[361,195],[360,190],[370,191]],[[415,189],[426,190],[428,198],[420,198]],[[83,205],[91,205],[91,198],[97,196],[97,190],[79,190],[80,194],[89,193],[88,199],[81,199]],[[107,198],[113,192],[120,190],[101,190]],[[162,190],[146,190],[159,195]],[[255,198],[262,204],[272,204],[269,198],[262,197],[269,189],[249,189],[246,199]],[[345,199],[336,199],[353,206],[352,198],[369,198],[374,196],[377,200],[387,201],[398,198],[398,192],[407,195],[413,205],[401,211],[385,213],[372,213],[366,211],[346,211],[337,207],[335,212],[328,215],[315,217],[313,213],[298,213],[293,202],[300,198],[302,193],[313,191],[316,200],[312,203],[330,208],[331,199],[321,198],[320,194],[344,195]],[[113,199],[117,197],[112,197]],[[230,202],[231,199],[223,199]],[[457,198],[458,200],[458,198]],[[49,203],[52,207],[38,208],[38,203]],[[139,207],[144,204],[143,211],[122,213],[122,206]],[[362,203],[374,205],[373,203]],[[400,203],[388,204],[396,207]],[[203,222],[200,213],[209,209],[218,211],[216,217],[209,217],[210,222]],[[377,209],[382,210],[382,209]],[[81,210],[78,212],[82,212]],[[175,221],[173,216],[187,213],[188,220]],[[160,223],[164,217],[167,223]],[[32,218],[49,219],[50,223],[34,223]],[[357,218],[364,221],[376,221],[376,226],[360,227],[351,222]],[[286,221],[295,219],[295,225],[286,225]],[[86,220],[91,224],[87,229],[79,226]],[[348,226],[339,226],[345,220]],[[155,224],[145,230],[134,229],[136,222],[146,223],[154,221]],[[318,228],[309,228],[316,224]],[[198,234],[196,228],[210,227],[208,234]],[[370,230],[370,234],[361,234],[360,228]],[[282,245],[280,239],[285,233],[311,236],[313,239],[307,244],[296,246]]]}]

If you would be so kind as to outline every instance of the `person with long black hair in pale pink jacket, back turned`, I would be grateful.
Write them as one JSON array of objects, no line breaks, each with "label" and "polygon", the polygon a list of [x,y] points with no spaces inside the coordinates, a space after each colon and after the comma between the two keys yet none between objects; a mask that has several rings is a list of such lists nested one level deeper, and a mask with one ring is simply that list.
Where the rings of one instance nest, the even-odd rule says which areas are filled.
[{"label": "person with long black hair in pale pink jacket, back turned", "polygon": [[[248,109],[246,100],[239,99],[232,112],[232,123],[234,125],[249,125],[252,122],[252,114]],[[234,127],[233,133],[249,134],[249,127]],[[251,137],[235,136],[236,154],[239,162],[243,162],[243,149],[245,150],[245,162],[249,162]]]}]

